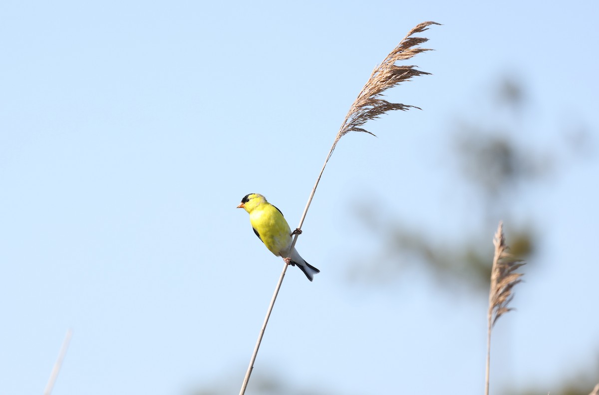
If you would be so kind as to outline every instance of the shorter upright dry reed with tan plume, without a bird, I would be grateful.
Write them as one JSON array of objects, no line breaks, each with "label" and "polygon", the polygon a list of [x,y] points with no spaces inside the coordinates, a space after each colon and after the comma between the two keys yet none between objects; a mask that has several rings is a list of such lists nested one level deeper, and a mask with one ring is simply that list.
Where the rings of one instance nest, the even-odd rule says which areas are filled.
[{"label": "shorter upright dry reed with tan plume, without a bird", "polygon": [[509,254],[506,238],[503,235],[503,222],[499,222],[497,233],[493,239],[495,255],[491,269],[491,289],[489,290],[489,310],[487,312],[487,361],[485,378],[485,395],[489,395],[489,364],[491,361],[491,330],[497,319],[512,308],[508,307],[512,301],[512,290],[521,282],[522,273],[516,273],[525,263]]}]

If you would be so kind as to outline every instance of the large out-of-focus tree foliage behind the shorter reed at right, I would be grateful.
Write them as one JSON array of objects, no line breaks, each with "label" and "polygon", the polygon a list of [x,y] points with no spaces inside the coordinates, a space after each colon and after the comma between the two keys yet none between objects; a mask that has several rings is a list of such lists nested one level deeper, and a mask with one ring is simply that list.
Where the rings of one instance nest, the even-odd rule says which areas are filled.
[{"label": "large out-of-focus tree foliage behind the shorter reed at right", "polygon": [[[512,117],[517,118],[526,107],[529,95],[516,79],[508,78],[500,81],[497,92],[491,98],[510,108]],[[377,282],[384,277],[385,281],[391,281],[393,277],[389,276],[389,270],[399,273],[407,266],[424,265],[430,269],[431,276],[443,279],[444,285],[466,285],[486,292],[491,273],[488,233],[494,229],[498,219],[509,224],[506,234],[513,254],[534,266],[531,255],[536,252],[543,234],[534,225],[533,219],[525,219],[528,223],[522,218],[513,220],[517,218],[512,209],[513,203],[521,200],[529,188],[556,177],[556,169],[563,167],[568,158],[561,157],[559,149],[562,146],[546,149],[545,152],[539,147],[527,146],[516,137],[526,134],[524,126],[518,127],[521,128],[518,131],[488,129],[462,121],[453,131],[455,144],[451,147],[450,156],[455,159],[459,177],[473,188],[482,207],[480,214],[469,215],[480,218],[474,234],[459,235],[462,239],[457,243],[455,240],[437,240],[431,232],[414,229],[401,219],[388,219],[388,214],[383,218],[382,212],[391,210],[376,212],[363,204],[356,210],[359,221],[382,240],[382,248],[373,259],[351,267],[350,278]],[[588,140],[584,133],[578,136],[577,140]],[[566,148],[577,149],[586,145],[588,141]],[[384,275],[379,277],[378,273]]]}]

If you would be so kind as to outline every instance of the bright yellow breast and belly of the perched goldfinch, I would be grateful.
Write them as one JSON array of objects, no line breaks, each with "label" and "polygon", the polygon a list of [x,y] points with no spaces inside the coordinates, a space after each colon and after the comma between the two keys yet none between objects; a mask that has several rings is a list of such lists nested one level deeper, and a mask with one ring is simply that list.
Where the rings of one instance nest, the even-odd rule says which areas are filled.
[{"label": "bright yellow breast and belly of the perched goldfinch", "polygon": [[264,245],[277,256],[287,254],[291,246],[291,229],[282,213],[270,203],[261,204],[250,213],[250,223]]}]

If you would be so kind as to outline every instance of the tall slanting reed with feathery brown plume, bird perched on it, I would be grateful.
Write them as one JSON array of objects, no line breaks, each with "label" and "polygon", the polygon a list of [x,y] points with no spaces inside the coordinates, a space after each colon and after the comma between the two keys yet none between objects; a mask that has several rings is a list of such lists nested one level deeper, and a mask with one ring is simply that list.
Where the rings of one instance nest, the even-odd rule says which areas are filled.
[{"label": "tall slanting reed with feathery brown plume, bird perched on it", "polygon": [[[337,146],[337,142],[341,137],[346,135],[349,132],[366,132],[369,134],[369,131],[364,129],[362,126],[368,120],[375,119],[380,117],[382,114],[391,110],[408,110],[409,108],[418,108],[413,105],[406,104],[398,104],[386,101],[382,99],[382,94],[387,89],[398,85],[401,82],[409,81],[412,77],[421,76],[426,73],[425,71],[417,70],[415,66],[400,66],[395,63],[398,61],[405,61],[407,59],[412,58],[412,56],[417,55],[420,52],[429,51],[430,49],[417,47],[419,44],[425,43],[428,41],[428,38],[423,37],[412,37],[413,34],[423,32],[428,29],[430,25],[439,25],[436,22],[423,22],[413,28],[407,35],[401,40],[400,44],[395,47],[394,50],[387,55],[385,60],[374,68],[372,74],[370,74],[370,78],[362,88],[362,91],[353,102],[352,106],[349,108],[343,123],[341,123],[341,127],[335,136],[335,140],[329,150],[328,155],[326,155],[325,164],[322,166],[320,173],[316,179],[316,183],[312,188],[310,193],[310,197],[308,197],[308,203],[305,205],[304,212],[302,213],[301,218],[299,219],[298,232],[295,234],[294,240],[292,242],[291,248],[289,251],[295,247],[295,243],[297,242],[297,238],[299,235],[299,230],[301,230],[302,225],[304,224],[304,219],[306,214],[308,213],[308,208],[310,207],[310,203],[312,202],[312,198],[314,197],[314,192],[316,192],[316,187],[320,182],[320,177],[322,177],[323,171],[325,171],[325,167],[335,146]],[[264,331],[266,329],[266,325],[268,324],[268,318],[270,317],[270,313],[273,310],[274,302],[276,301],[277,295],[279,294],[279,290],[281,288],[281,284],[283,282],[283,278],[285,277],[285,272],[287,270],[287,264],[283,266],[283,271],[279,277],[279,282],[274,290],[273,297],[271,298],[270,305],[268,306],[268,310],[266,316],[264,318],[264,323],[262,324],[262,328],[260,333],[258,334],[258,341],[256,342],[256,346],[254,348],[254,352],[252,354],[252,358],[250,358],[250,364],[247,368],[246,376],[243,380],[243,384],[241,385],[240,395],[243,395],[246,391],[247,383],[250,379],[250,375],[252,374],[253,365],[256,360],[256,355],[258,355],[258,349],[260,348],[260,343],[262,342],[262,336],[264,336]]]}]

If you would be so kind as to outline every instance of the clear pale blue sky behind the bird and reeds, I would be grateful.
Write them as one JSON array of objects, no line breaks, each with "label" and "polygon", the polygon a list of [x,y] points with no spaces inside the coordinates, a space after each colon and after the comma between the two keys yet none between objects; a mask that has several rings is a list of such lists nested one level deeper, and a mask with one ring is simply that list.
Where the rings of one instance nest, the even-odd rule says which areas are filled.
[{"label": "clear pale blue sky behind the bird and reeds", "polygon": [[559,150],[583,128],[591,155],[514,203],[543,228],[543,270],[496,327],[492,393],[596,372],[598,8],[2,2],[0,393],[40,393],[68,328],[54,394],[235,392],[283,264],[235,206],[264,194],[295,227],[371,70],[426,20],[443,23],[422,34],[435,51],[410,63],[433,75],[389,92],[423,111],[338,144],[297,246],[321,273],[288,270],[254,374],[323,393],[482,391],[485,297],[347,270],[380,246],[356,204],[437,237],[488,234],[490,251],[495,229],[456,209],[470,195],[447,147],[459,120],[513,126],[489,99],[502,76],[530,95],[521,144]]}]

